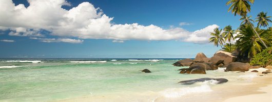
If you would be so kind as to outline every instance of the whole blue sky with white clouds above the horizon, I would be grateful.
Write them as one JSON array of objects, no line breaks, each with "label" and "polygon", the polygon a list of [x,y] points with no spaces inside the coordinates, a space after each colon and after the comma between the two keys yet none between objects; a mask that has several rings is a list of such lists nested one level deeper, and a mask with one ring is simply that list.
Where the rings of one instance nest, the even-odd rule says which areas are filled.
[{"label": "whole blue sky with white clouds above the horizon", "polygon": [[[221,47],[210,32],[241,23],[226,2],[1,0],[0,58],[211,57]],[[248,15],[271,16],[271,4],[255,1]]]}]

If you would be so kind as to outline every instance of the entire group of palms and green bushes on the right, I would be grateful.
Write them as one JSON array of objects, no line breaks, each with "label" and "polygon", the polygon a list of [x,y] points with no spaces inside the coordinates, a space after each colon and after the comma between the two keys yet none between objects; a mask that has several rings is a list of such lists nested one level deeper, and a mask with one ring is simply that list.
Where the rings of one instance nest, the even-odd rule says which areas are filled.
[{"label": "entire group of palms and green bushes on the right", "polygon": [[[271,16],[267,12],[260,12],[256,19],[247,16],[250,12],[250,4],[254,0],[229,0],[226,5],[230,5],[228,12],[240,15],[241,25],[237,30],[233,30],[231,25],[227,25],[223,31],[216,28],[210,35],[209,40],[215,46],[220,45],[226,52],[236,52],[241,59],[249,59],[251,65],[267,66],[272,64],[272,28],[269,27]],[[257,28],[254,27],[257,22]],[[263,27],[264,29],[261,29]],[[266,28],[266,29],[265,29]],[[236,40],[235,43],[234,40]],[[224,46],[224,47],[222,47]]]}]

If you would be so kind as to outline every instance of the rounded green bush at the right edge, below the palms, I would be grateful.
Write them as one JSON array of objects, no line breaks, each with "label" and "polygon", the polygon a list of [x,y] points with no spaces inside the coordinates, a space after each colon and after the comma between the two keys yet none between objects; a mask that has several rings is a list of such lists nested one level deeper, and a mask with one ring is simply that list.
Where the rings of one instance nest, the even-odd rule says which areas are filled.
[{"label": "rounded green bush at the right edge, below the palms", "polygon": [[261,53],[258,53],[254,58],[250,61],[251,65],[260,65],[262,67],[266,67],[267,65],[272,65],[272,47],[268,47],[264,49]]}]

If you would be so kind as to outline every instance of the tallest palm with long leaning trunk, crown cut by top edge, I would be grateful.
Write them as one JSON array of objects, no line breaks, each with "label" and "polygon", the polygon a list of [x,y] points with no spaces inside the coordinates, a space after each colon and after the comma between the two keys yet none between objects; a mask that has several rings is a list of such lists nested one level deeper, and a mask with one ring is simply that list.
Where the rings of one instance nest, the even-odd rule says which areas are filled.
[{"label": "tallest palm with long leaning trunk, crown cut by top edge", "polygon": [[[234,15],[236,16],[236,14],[241,15],[241,16],[245,16],[246,20],[248,22],[250,22],[246,16],[247,12],[250,12],[250,4],[253,4],[255,0],[229,0],[226,5],[230,5],[228,12],[231,10],[231,13],[234,13]],[[249,3],[248,3],[249,2]],[[261,40],[261,42],[263,43],[263,45],[265,46],[265,48],[267,48],[266,44],[263,42],[263,40],[261,39],[261,37],[259,36],[259,34],[257,33],[257,31],[254,29],[253,24],[249,23],[249,25],[251,26],[251,28],[254,30],[254,32],[256,33],[257,37]]]}]

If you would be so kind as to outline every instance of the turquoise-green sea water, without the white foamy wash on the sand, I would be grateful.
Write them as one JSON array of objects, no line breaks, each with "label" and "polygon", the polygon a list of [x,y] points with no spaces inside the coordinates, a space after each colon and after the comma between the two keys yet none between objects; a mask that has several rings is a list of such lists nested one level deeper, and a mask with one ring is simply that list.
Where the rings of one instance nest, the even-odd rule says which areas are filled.
[{"label": "turquoise-green sea water, without the white foamy wash on the sand", "polygon": [[[188,87],[178,84],[182,80],[224,77],[222,70],[207,71],[206,75],[179,74],[177,70],[182,67],[171,65],[177,59],[39,61],[0,61],[0,100],[56,101],[83,96],[161,93],[171,88]],[[149,69],[152,73],[143,73],[143,69]],[[234,75],[233,78],[235,77]],[[189,87],[196,86],[199,85]]]}]

